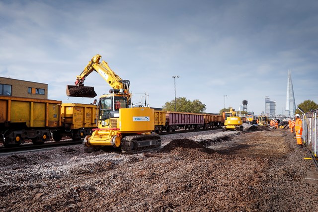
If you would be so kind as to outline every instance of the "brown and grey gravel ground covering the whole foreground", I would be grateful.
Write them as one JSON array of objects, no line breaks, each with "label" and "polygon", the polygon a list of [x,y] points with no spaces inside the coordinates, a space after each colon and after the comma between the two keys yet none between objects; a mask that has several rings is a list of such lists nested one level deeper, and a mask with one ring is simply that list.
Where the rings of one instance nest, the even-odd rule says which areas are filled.
[{"label": "brown and grey gravel ground covering the whole foreground", "polygon": [[317,211],[294,135],[244,127],[162,136],[158,151],[135,155],[77,145],[2,156],[0,210]]}]

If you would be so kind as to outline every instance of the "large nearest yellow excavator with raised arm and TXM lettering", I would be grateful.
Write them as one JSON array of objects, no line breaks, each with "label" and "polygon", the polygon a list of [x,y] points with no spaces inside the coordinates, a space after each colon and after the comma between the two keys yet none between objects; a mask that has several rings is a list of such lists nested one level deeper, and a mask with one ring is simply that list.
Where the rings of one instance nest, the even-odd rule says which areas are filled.
[{"label": "large nearest yellow excavator with raised arm and TXM lettering", "polygon": [[100,96],[97,104],[97,128],[84,138],[86,147],[98,150],[103,146],[120,147],[126,154],[159,149],[161,139],[153,134],[155,129],[154,109],[134,107],[129,92],[130,81],[121,79],[108,64],[95,55],[84,71],[76,77],[75,85],[67,85],[67,96],[95,97],[93,87],[84,86],[91,72],[98,72],[112,87],[109,94]]}]

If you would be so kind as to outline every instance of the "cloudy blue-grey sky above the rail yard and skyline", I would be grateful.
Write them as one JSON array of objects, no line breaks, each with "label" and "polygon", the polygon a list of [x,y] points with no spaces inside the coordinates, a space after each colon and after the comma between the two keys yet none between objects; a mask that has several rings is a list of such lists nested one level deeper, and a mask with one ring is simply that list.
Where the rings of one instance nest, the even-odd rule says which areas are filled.
[{"label": "cloudy blue-grey sky above the rail yard and skyline", "polygon": [[[161,108],[175,91],[209,113],[247,100],[260,114],[269,96],[281,114],[289,70],[296,106],[318,103],[317,11],[317,0],[0,0],[0,76],[89,104],[66,85],[99,54],[130,80],[134,103],[148,93]],[[85,86],[95,98],[111,88],[95,71]]]}]

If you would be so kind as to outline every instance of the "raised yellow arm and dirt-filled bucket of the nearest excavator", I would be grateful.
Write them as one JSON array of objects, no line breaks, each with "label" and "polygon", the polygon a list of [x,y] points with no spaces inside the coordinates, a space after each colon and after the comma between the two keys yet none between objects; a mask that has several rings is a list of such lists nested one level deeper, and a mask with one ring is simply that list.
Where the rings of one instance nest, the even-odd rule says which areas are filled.
[{"label": "raised yellow arm and dirt-filled bucket of the nearest excavator", "polygon": [[85,69],[76,77],[75,85],[67,85],[67,96],[73,97],[95,97],[97,94],[94,87],[84,86],[84,80],[91,72],[96,71],[101,77],[115,90],[123,93],[129,93],[129,80],[121,79],[114,71],[112,71],[105,61],[101,61],[100,55],[95,55],[87,64]]}]

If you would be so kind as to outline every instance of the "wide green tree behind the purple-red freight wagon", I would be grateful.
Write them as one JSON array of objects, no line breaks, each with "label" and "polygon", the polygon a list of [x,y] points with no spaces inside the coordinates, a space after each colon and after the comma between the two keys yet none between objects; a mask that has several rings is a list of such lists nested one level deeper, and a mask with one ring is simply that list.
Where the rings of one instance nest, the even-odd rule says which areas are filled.
[{"label": "wide green tree behind the purple-red freight wagon", "polygon": [[[170,102],[166,102],[162,109],[167,111],[174,111],[174,100]],[[206,110],[206,105],[195,99],[191,101],[190,99],[186,99],[185,97],[178,97],[176,99],[176,111],[177,112],[187,112],[187,113],[203,113]]]}]

